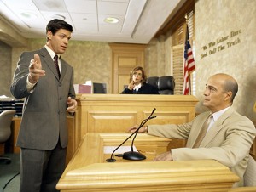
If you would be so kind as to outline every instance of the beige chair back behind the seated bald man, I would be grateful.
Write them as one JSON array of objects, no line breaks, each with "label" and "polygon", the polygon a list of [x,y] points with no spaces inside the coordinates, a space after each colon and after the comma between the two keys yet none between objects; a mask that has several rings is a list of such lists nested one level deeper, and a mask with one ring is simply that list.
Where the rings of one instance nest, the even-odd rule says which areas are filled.
[{"label": "beige chair back behind the seated bald man", "polygon": [[248,165],[246,172],[243,175],[244,186],[256,186],[256,161],[249,155]]}]

